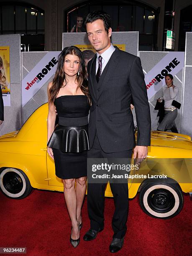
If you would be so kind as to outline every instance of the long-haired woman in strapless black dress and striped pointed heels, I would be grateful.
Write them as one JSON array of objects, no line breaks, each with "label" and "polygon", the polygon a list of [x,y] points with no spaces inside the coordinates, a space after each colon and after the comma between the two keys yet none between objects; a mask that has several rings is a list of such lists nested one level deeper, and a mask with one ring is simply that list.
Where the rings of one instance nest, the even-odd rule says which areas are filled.
[{"label": "long-haired woman in strapless black dress and striped pointed heels", "polygon": [[[79,48],[70,46],[61,51],[55,77],[48,85],[48,100],[47,152],[54,159],[56,176],[63,179],[64,197],[72,221],[70,243],[77,247],[86,191],[91,103],[85,64]],[[56,128],[55,108],[59,117]]]}]

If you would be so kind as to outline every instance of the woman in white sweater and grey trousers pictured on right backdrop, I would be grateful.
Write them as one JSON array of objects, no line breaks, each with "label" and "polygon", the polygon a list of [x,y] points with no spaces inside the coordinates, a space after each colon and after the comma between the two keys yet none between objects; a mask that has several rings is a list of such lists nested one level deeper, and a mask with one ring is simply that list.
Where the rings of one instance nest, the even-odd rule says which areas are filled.
[{"label": "woman in white sweater and grey trousers pictured on right backdrop", "polygon": [[[177,108],[172,105],[173,100],[177,100],[179,94],[179,88],[173,84],[172,74],[167,74],[165,77],[166,87],[163,90],[164,100],[164,118],[159,123],[157,131],[171,130],[173,133],[178,133],[175,124],[177,118]],[[162,99],[158,99],[158,102],[162,102]]]}]

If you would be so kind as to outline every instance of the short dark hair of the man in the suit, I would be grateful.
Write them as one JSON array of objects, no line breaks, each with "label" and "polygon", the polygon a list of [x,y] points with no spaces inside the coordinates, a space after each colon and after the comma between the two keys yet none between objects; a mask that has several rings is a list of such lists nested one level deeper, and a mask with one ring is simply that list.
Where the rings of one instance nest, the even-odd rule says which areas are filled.
[{"label": "short dark hair of the man in the suit", "polygon": [[97,10],[92,13],[89,13],[84,20],[84,28],[86,29],[87,23],[92,23],[95,20],[102,20],[104,23],[105,31],[108,33],[108,30],[111,27],[110,15],[101,10]]}]

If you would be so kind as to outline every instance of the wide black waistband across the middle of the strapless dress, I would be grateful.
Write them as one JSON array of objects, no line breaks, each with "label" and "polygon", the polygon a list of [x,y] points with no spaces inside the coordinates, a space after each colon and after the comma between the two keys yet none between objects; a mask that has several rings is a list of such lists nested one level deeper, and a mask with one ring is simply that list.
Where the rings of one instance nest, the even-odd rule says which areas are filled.
[{"label": "wide black waistband across the middle of the strapless dress", "polygon": [[66,118],[59,116],[59,125],[64,126],[83,126],[88,124],[88,115],[80,118]]}]

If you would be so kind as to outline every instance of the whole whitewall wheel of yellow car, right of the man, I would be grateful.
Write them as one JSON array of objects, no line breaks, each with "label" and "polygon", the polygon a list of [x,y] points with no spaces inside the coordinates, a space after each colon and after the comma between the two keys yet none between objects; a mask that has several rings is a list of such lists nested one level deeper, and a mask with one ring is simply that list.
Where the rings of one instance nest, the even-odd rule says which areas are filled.
[{"label": "whole whitewall wheel of yellow car, right of the man", "polygon": [[173,218],[183,207],[182,190],[177,183],[147,183],[141,188],[139,201],[143,211],[153,218]]}]

